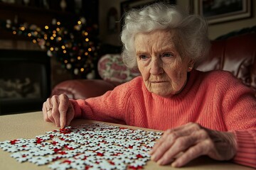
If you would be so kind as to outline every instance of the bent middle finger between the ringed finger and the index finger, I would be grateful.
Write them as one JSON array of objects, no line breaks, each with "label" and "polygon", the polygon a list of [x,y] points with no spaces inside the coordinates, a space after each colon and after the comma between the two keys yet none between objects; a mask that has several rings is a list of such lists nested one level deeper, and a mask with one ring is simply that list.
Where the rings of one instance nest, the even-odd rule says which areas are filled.
[{"label": "bent middle finger between the ringed finger and the index finger", "polygon": [[50,98],[50,101],[53,105],[53,108],[52,108],[51,111],[48,111],[48,113],[51,113],[51,115],[54,119],[55,125],[57,127],[60,127],[60,112],[59,112],[60,101],[59,101],[59,96],[57,96],[57,95],[52,96]]}]

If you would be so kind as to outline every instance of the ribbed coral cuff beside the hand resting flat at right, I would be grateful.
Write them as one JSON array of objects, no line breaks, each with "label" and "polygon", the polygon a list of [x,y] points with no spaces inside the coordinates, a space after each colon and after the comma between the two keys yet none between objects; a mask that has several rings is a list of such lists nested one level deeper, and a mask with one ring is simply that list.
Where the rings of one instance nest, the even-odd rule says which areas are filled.
[{"label": "ribbed coral cuff beside the hand resting flat at right", "polygon": [[256,130],[233,131],[237,140],[237,153],[233,162],[256,168]]}]

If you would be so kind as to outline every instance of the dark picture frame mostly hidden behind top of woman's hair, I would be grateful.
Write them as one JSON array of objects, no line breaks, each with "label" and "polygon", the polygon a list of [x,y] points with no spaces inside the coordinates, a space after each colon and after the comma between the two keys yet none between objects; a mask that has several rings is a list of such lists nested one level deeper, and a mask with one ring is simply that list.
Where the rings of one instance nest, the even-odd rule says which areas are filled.
[{"label": "dark picture frame mostly hidden behind top of woman's hair", "polygon": [[167,4],[176,4],[176,0],[127,0],[120,4],[121,9],[121,25],[123,25],[124,13],[132,8],[142,8],[143,6],[154,4],[156,2],[165,2]]}]

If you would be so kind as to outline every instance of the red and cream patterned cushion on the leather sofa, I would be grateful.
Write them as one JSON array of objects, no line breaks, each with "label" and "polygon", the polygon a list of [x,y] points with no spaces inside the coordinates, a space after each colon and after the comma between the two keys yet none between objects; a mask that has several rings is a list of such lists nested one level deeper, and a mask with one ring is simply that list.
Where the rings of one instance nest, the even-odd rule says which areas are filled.
[{"label": "red and cream patterned cushion on the leather sofa", "polygon": [[138,69],[128,69],[119,54],[103,55],[97,69],[102,79],[113,84],[122,84],[140,75]]}]

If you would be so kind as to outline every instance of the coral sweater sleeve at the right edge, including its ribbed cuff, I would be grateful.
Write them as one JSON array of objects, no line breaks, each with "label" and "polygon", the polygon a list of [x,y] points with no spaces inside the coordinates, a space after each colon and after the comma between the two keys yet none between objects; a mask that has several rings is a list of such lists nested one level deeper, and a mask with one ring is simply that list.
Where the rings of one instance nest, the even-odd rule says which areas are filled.
[{"label": "coral sweater sleeve at the right edge, including its ribbed cuff", "polygon": [[225,75],[217,87],[220,108],[228,131],[235,134],[237,154],[233,162],[256,168],[256,98],[252,89]]}]

